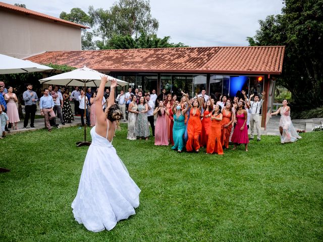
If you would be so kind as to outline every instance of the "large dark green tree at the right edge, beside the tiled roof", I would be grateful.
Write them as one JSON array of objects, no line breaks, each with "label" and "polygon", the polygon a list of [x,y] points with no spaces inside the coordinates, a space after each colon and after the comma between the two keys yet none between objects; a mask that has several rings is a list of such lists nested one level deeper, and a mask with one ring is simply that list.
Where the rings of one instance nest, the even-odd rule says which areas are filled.
[{"label": "large dark green tree at the right edge, beside the tiled roof", "polygon": [[278,84],[291,91],[303,108],[323,101],[323,0],[286,0],[281,15],[259,21],[250,45],[285,45],[282,76]]}]

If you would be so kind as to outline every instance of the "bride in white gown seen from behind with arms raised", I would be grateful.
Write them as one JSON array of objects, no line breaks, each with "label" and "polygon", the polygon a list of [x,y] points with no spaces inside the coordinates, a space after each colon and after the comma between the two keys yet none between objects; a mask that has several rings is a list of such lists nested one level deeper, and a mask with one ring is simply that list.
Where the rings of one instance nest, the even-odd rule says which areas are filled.
[{"label": "bride in white gown seen from behind with arms raised", "polygon": [[107,82],[101,78],[96,97],[96,126],[91,129],[90,145],[80,178],[77,195],[72,203],[75,220],[93,232],[113,229],[117,222],[135,214],[139,206],[140,189],[129,176],[112,145],[122,119],[122,111],[115,104],[117,81],[111,81],[109,102],[105,112],[101,102]]}]

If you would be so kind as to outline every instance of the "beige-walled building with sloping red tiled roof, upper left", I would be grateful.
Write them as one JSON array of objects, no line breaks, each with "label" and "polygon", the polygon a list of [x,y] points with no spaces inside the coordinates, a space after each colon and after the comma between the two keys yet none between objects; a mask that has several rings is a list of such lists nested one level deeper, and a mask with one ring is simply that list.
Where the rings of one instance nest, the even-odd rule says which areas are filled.
[{"label": "beige-walled building with sloping red tiled roof, upper left", "polygon": [[0,2],[0,53],[17,58],[55,50],[81,50],[81,29],[63,19]]}]

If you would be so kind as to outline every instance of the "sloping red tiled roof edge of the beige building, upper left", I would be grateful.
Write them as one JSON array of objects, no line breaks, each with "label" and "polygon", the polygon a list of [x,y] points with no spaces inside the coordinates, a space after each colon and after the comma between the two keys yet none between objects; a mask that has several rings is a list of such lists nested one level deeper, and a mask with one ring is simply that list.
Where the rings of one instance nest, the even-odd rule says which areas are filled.
[{"label": "sloping red tiled roof edge of the beige building, upper left", "polygon": [[18,13],[22,13],[22,14],[25,14],[25,15],[32,15],[32,16],[44,18],[44,19],[47,19],[47,20],[52,20],[53,22],[60,22],[60,23],[68,24],[68,25],[74,25],[74,26],[80,27],[82,29],[88,29],[88,27],[86,27],[84,25],[76,24],[76,23],[73,23],[73,22],[70,22],[70,21],[67,21],[67,20],[64,20],[64,19],[60,19],[60,18],[51,17],[51,16],[46,15],[46,14],[38,13],[38,12],[35,12],[35,11],[32,11],[32,10],[17,7],[17,6],[11,5],[11,4],[6,4],[6,3],[0,2],[0,9],[1,8],[11,10],[11,11],[14,11],[14,12],[18,12]]}]

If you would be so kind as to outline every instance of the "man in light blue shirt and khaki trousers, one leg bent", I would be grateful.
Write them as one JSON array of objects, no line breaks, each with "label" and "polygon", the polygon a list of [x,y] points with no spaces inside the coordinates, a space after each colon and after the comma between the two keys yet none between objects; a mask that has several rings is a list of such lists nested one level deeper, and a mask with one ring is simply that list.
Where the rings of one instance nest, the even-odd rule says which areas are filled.
[{"label": "man in light blue shirt and khaki trousers, one leg bent", "polygon": [[49,120],[54,119],[55,112],[53,107],[55,103],[51,96],[49,96],[49,91],[47,88],[44,89],[44,95],[40,98],[39,107],[40,107],[40,114],[45,117],[45,125],[48,129],[48,132],[51,131]]}]

